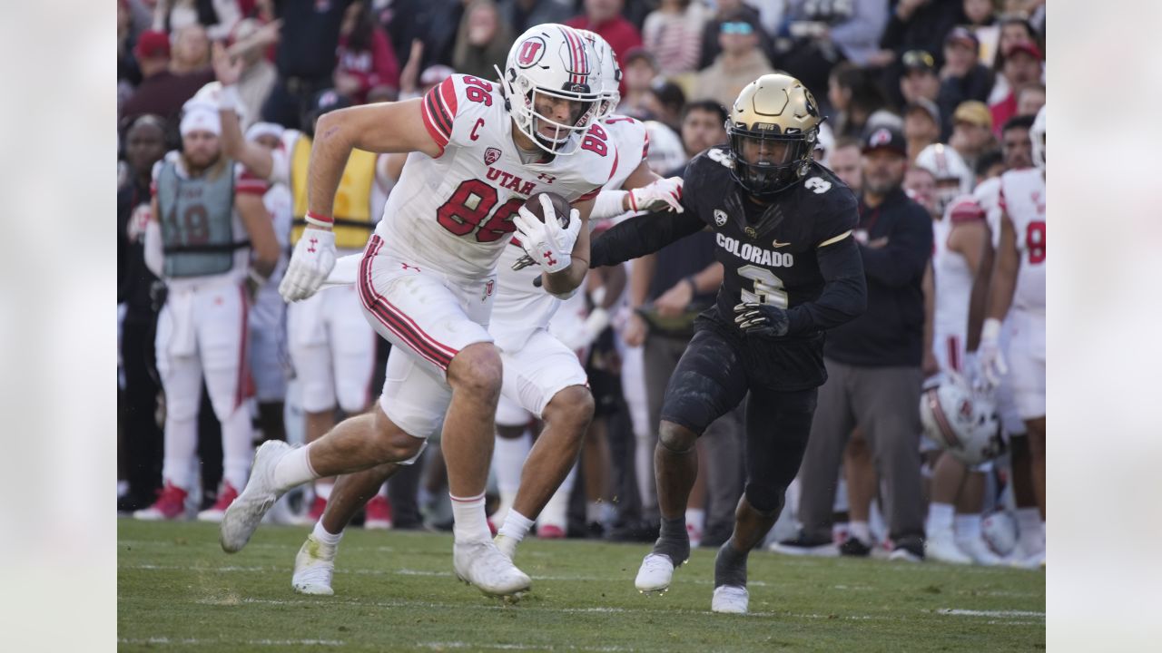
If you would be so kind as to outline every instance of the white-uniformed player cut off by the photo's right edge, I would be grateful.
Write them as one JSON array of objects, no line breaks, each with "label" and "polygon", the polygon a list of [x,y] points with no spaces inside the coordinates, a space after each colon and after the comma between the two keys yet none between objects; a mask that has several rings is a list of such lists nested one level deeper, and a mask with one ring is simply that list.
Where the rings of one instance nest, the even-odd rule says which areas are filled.
[{"label": "white-uniformed player cut off by the photo's right edge", "polygon": [[[1000,224],[988,309],[981,329],[978,360],[988,386],[1010,375],[1017,410],[1025,421],[1032,458],[1033,487],[1041,519],[1045,496],[1045,278],[1046,278],[1046,136],[1045,107],[1037,114],[1030,138],[1035,167],[1011,170],[1000,177]],[[1010,310],[1011,309],[1011,310]],[[1010,366],[1000,352],[1002,321],[1012,322]],[[1045,562],[1045,550],[1025,565]]]}]

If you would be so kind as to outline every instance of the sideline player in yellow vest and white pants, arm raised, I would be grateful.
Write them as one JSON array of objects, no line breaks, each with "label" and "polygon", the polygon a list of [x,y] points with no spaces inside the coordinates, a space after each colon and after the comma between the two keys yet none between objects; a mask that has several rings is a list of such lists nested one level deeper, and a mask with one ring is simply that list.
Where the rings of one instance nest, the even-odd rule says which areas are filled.
[{"label": "sideline player in yellow vest and white pants, arm raised", "polygon": [[[242,138],[237,81],[241,59],[230,60],[221,46],[214,50],[214,71],[223,89],[218,96],[222,115],[222,142],[228,155],[254,174],[290,189],[294,227],[289,244],[304,232],[307,214],[308,158],[318,116],[351,106],[333,91],[321,92],[303,116],[303,129],[288,129],[281,146],[261,148]],[[387,155],[354,151],[346,162],[335,200],[336,256],[360,253],[372,229],[380,221],[383,203],[392,189],[387,175]],[[287,343],[300,386],[303,426],[308,443],[335,428],[336,411],[346,415],[366,412],[372,403],[375,364],[375,331],[361,316],[359,294],[353,286],[318,293],[287,308]],[[314,523],[323,514],[331,494],[331,479],[314,483],[315,501],[307,519]],[[367,525],[386,528],[390,509],[380,491],[368,505]]]}]

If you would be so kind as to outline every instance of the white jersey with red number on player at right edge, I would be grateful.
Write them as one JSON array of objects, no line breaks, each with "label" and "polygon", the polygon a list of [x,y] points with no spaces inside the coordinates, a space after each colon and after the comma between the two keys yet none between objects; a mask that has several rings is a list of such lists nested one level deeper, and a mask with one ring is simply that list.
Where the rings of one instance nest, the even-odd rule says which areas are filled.
[{"label": "white jersey with red number on player at right edge", "polygon": [[1033,168],[1000,177],[1000,208],[1009,215],[1020,253],[1013,308],[1045,315],[1045,178]]}]

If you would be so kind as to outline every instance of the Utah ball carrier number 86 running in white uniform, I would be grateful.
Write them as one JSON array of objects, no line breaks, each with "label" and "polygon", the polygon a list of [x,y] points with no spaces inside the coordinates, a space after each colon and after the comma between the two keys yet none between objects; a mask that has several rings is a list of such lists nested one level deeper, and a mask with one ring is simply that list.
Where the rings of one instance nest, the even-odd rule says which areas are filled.
[{"label": "Utah ball carrier number 86 running in white uniform", "polygon": [[[458,74],[423,99],[320,119],[309,227],[280,286],[287,301],[313,295],[335,266],[330,211],[351,150],[411,152],[358,273],[364,314],[393,344],[383,394],[371,414],[345,419],[306,447],[259,447],[251,481],[222,522],[225,551],[241,550],[286,490],[352,474],[336,483],[336,500],[358,485],[356,472],[414,460],[443,424],[457,575],[489,595],[529,588],[529,576],[492,541],[485,514],[502,375],[487,324],[496,260],[514,231],[550,292],[566,294],[584,278],[591,200],[617,167],[604,131],[589,130],[598,85],[591,48],[569,28],[544,24],[514,44],[503,87]],[[547,201],[544,222],[524,208],[539,191],[576,206],[568,228]],[[333,547],[342,532],[325,523],[324,515],[313,536]]]}]

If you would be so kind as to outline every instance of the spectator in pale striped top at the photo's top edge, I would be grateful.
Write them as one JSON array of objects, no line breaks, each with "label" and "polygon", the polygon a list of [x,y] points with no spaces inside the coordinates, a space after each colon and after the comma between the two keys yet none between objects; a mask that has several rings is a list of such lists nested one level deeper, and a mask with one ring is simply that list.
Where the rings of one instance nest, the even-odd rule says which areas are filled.
[{"label": "spectator in pale striped top at the photo's top edge", "polygon": [[674,77],[694,72],[702,55],[702,30],[709,19],[697,0],[661,0],[646,16],[641,40],[661,64],[661,73]]}]

